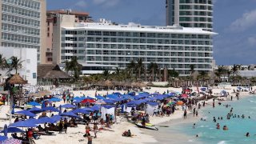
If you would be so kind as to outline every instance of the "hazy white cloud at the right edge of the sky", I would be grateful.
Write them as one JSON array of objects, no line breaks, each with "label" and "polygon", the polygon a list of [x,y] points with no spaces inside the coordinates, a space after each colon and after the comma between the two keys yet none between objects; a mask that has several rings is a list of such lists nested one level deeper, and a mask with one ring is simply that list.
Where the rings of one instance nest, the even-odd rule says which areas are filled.
[{"label": "hazy white cloud at the right edge of the sky", "polygon": [[250,12],[246,12],[242,14],[242,18],[238,18],[230,25],[231,31],[244,31],[249,29],[252,26],[256,25],[256,10],[252,10]]}]

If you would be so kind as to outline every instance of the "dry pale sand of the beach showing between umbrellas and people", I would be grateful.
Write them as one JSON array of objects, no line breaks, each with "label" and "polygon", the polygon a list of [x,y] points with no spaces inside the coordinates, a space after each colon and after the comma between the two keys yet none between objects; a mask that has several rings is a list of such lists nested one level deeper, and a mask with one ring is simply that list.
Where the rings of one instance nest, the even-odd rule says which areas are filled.
[{"label": "dry pale sand of the beach showing between umbrellas and people", "polygon": [[[254,90],[255,87],[253,87]],[[182,88],[158,88],[158,87],[151,87],[150,90],[145,90],[150,93],[154,93],[158,91],[160,94],[163,92],[166,92],[166,90],[169,91],[182,91]],[[192,87],[193,91],[196,91],[196,87]],[[213,94],[219,94],[222,90],[226,90],[230,95],[233,95],[233,90],[236,90],[236,87],[228,86],[228,87],[214,87],[213,88]],[[95,90],[83,90],[83,91],[72,91],[74,96],[82,96],[85,94],[86,96],[94,97],[96,91]],[[117,92],[116,90],[108,90],[108,91],[97,91],[97,94],[112,94],[113,92]],[[120,93],[126,93],[127,91],[119,91]],[[241,96],[248,95],[248,92],[241,92]],[[230,97],[229,97],[230,98]],[[227,98],[227,100],[229,100]],[[212,100],[208,100],[206,103],[211,106]],[[59,106],[63,104],[63,102],[56,102],[56,106]],[[6,113],[9,111],[9,106],[1,106],[1,118],[6,118]],[[172,123],[172,126],[175,125],[175,122],[181,122],[181,118],[183,115],[183,111],[181,106],[178,107],[179,110],[176,110],[174,114],[171,114],[170,117],[164,116],[163,118],[160,117],[151,117],[150,116],[150,123],[154,125],[169,125]],[[189,111],[190,113],[190,111]],[[121,121],[122,119],[122,121]],[[178,120],[175,120],[178,119]],[[193,121],[193,117],[188,116],[185,122]],[[196,119],[195,119],[196,120]],[[14,119],[12,119],[12,122],[14,122]],[[5,124],[9,124],[8,120],[1,120],[0,126],[3,127]],[[90,125],[92,127],[92,125]],[[100,125],[98,127],[101,127]],[[23,129],[25,130],[25,129]],[[134,124],[131,124],[130,122],[127,122],[126,118],[117,117],[117,123],[115,123],[113,126],[111,126],[110,130],[101,130],[97,134],[97,138],[93,138],[93,143],[156,143],[157,140],[150,134],[154,135],[154,133],[158,133],[158,131],[150,131],[150,133],[145,132],[145,130],[139,129],[137,126],[134,126]],[[132,138],[128,137],[122,137],[122,133],[125,130],[130,130],[134,136]],[[92,136],[94,136],[93,132],[90,132]],[[41,136],[40,139],[36,140],[35,142],[38,144],[45,144],[45,143],[86,143],[87,138],[84,138],[82,135],[85,134],[85,126],[84,125],[78,125],[78,127],[75,128],[68,128],[67,134],[58,134],[58,132],[55,132],[56,135],[54,136]],[[10,136],[10,135],[9,135]]]}]

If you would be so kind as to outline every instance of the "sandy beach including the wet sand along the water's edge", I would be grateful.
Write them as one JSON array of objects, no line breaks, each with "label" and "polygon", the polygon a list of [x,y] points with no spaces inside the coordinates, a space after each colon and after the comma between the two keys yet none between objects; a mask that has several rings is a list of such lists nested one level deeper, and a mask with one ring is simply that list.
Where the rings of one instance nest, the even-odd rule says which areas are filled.
[{"label": "sandy beach including the wet sand along the water's edge", "polygon": [[[231,90],[235,89],[236,87],[231,87],[228,88],[228,91],[231,94]],[[196,87],[192,87],[192,90],[196,91]],[[145,90],[147,92],[150,93],[154,93],[155,91],[158,91],[160,94],[162,94],[164,91],[166,90],[173,90],[173,91],[181,91],[182,88],[159,88],[159,87],[151,87],[150,90]],[[213,94],[214,93],[219,93],[222,90],[222,88],[220,89],[213,89]],[[118,91],[118,90],[102,90],[102,91],[97,91],[97,94],[112,94],[112,92],[121,92],[124,93],[126,91]],[[74,91],[74,95],[82,95],[85,94],[86,96],[90,96],[90,97],[94,97],[96,93],[96,90],[80,90],[80,91]],[[254,96],[253,94],[248,94],[248,92],[244,92],[241,93],[240,98],[243,98],[246,95],[250,95],[250,96]],[[228,100],[228,99],[227,99]],[[200,101],[202,102],[202,101]],[[206,104],[207,106],[211,106],[210,102],[212,102],[212,99],[208,100]],[[215,101],[215,103],[217,103],[218,101]],[[231,102],[231,101],[230,101]],[[56,106],[59,106],[60,104],[63,104],[62,102],[56,102],[55,103]],[[218,105],[218,104],[216,104]],[[1,110],[1,118],[6,118],[5,113],[8,111],[7,109],[9,109],[10,106],[3,106],[2,110]],[[159,127],[159,130],[164,130],[164,129],[168,129],[168,128],[172,128],[178,124],[182,124],[182,123],[189,123],[189,122],[194,122],[194,121],[198,121],[199,119],[194,119],[193,116],[191,118],[192,112],[190,110],[187,111],[187,119],[184,121],[183,120],[183,111],[182,111],[182,106],[177,106],[177,108],[179,108],[179,110],[175,110],[174,114],[170,114],[170,117],[166,117],[164,116],[163,118],[161,117],[151,117],[150,116],[150,123],[156,125]],[[203,106],[201,107],[201,109],[204,109]],[[16,109],[17,110],[17,109]],[[199,117],[201,118],[201,114],[199,111]],[[181,121],[182,120],[182,121]],[[12,119],[12,122],[14,122],[14,119]],[[126,143],[157,143],[158,142],[158,136],[156,134],[158,134],[157,131],[153,131],[153,130],[145,130],[145,129],[141,129],[138,128],[137,126],[135,126],[134,124],[131,124],[130,122],[126,122],[122,121],[120,122],[120,117],[118,117],[117,119],[118,123],[115,123],[112,126],[111,130],[113,131],[108,131],[108,130],[102,130],[101,132],[98,132],[97,134],[97,138],[93,138],[93,142],[94,143],[110,143],[110,144],[126,144]],[[180,122],[180,123],[179,123]],[[9,120],[8,121],[0,121],[0,126],[4,126],[5,123],[9,124]],[[169,127],[161,127],[161,126],[169,126]],[[90,125],[92,126],[92,125]],[[100,127],[100,125],[98,125],[98,127]],[[25,130],[25,129],[24,129]],[[131,130],[131,133],[134,134],[135,136],[132,138],[127,138],[127,137],[122,137],[122,132],[124,132],[125,130]],[[174,131],[175,132],[175,131]],[[177,131],[176,131],[177,133]],[[62,142],[63,144],[68,144],[70,142],[75,143],[85,143],[87,142],[87,138],[82,137],[83,134],[85,134],[85,126],[84,125],[78,125],[78,127],[76,128],[68,128],[67,130],[67,134],[58,134],[58,132],[55,132],[56,135],[54,136],[41,136],[41,138],[39,140],[36,140],[35,142],[37,144],[44,144],[44,143],[59,143]],[[90,132],[90,134],[92,136],[94,136],[93,131]],[[172,141],[174,142],[181,142],[182,138],[188,138],[190,136],[184,134],[184,136],[181,136],[181,134],[172,134],[173,137],[175,139],[172,139]],[[8,136],[10,136],[10,134],[8,134]],[[165,136],[165,135],[163,135]],[[166,135],[167,137],[167,135]],[[169,138],[169,137],[167,137]],[[180,141],[179,139],[180,138]],[[178,141],[177,141],[178,140]],[[190,139],[191,141],[193,141],[193,138]],[[187,142],[187,141],[186,141]]]}]

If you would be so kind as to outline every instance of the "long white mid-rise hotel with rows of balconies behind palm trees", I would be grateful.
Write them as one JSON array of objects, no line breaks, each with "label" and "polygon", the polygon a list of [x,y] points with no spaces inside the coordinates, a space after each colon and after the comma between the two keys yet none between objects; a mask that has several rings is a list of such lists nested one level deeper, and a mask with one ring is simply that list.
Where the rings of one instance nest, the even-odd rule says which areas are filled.
[{"label": "long white mid-rise hotel with rows of balconies behind palm trees", "polygon": [[61,46],[56,47],[54,57],[60,56],[54,58],[54,63],[76,56],[84,66],[83,74],[96,74],[117,66],[124,69],[138,58],[142,58],[146,67],[156,62],[162,69],[178,70],[180,75],[189,75],[190,65],[198,71],[213,70],[215,33],[200,28],[117,25],[102,19],[61,30]]}]

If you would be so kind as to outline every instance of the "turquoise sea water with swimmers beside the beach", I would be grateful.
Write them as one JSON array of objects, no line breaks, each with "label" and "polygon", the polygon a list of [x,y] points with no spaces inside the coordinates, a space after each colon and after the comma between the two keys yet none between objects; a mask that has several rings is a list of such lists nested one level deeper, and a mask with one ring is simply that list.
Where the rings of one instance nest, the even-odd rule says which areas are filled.
[{"label": "turquoise sea water with swimmers beside the beach", "polygon": [[[229,104],[230,107],[223,106]],[[207,143],[207,144],[256,144],[256,96],[241,98],[239,101],[222,102],[222,106],[211,106],[200,111],[200,118],[206,118],[206,122],[196,122],[196,128],[193,129],[193,123],[180,123],[168,128],[159,128],[158,134],[154,134],[159,143]],[[240,115],[240,118],[231,117],[226,119],[226,114],[233,107],[233,113]],[[210,112],[210,114],[209,114]],[[241,118],[244,114],[245,118]],[[248,118],[250,116],[250,118]],[[190,115],[190,117],[193,117]],[[213,117],[217,118],[221,129],[216,129],[217,122],[213,122]],[[223,120],[218,120],[222,117]],[[182,120],[179,120],[182,121]],[[229,130],[222,130],[222,126],[228,126]],[[246,133],[250,133],[247,138]],[[198,138],[195,136],[198,134]],[[177,138],[178,141],[174,139]]]}]

